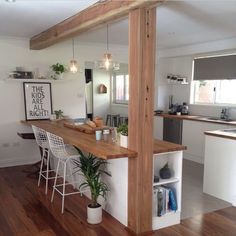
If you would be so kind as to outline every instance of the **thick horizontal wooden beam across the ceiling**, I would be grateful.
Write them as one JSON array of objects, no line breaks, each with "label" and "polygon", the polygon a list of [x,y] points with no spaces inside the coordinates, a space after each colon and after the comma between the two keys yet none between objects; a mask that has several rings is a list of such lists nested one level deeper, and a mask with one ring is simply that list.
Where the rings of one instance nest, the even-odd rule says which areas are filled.
[{"label": "thick horizontal wooden beam across the ceiling", "polygon": [[[30,39],[30,49],[40,50],[91,30],[101,24],[128,16],[139,7],[155,7],[163,0],[106,0],[98,2]],[[69,3],[68,3],[69,4]]]}]

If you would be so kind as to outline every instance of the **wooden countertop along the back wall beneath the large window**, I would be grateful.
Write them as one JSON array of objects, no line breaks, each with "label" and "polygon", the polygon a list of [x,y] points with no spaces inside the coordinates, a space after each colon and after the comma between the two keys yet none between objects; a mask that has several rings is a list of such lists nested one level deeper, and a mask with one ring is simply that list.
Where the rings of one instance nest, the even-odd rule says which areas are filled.
[{"label": "wooden countertop along the back wall beneath the large window", "polygon": [[233,121],[223,121],[223,120],[211,120],[209,117],[206,116],[191,116],[191,115],[170,115],[167,113],[163,114],[157,114],[155,116],[160,116],[163,118],[172,118],[172,119],[180,119],[180,120],[193,120],[193,121],[201,121],[201,122],[208,122],[208,123],[215,123],[215,124],[224,124],[224,125],[235,125],[236,126],[236,120]]}]

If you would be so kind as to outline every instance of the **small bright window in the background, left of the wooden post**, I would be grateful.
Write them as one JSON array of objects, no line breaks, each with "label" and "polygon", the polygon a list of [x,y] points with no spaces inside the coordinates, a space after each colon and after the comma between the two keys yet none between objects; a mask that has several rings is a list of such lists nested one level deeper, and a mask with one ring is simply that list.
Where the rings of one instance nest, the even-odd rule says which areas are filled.
[{"label": "small bright window in the background, left of the wooden post", "polygon": [[129,75],[113,75],[113,101],[116,104],[128,104],[129,101]]}]

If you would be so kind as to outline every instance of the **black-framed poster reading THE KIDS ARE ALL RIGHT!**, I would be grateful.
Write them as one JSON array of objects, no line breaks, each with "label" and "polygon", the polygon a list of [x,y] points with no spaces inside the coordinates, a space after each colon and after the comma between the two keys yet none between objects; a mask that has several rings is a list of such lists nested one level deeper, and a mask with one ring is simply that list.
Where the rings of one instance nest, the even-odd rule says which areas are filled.
[{"label": "black-framed poster reading THE KIDS ARE ALL RIGHT!", "polygon": [[51,83],[24,82],[26,120],[48,120],[52,114]]}]

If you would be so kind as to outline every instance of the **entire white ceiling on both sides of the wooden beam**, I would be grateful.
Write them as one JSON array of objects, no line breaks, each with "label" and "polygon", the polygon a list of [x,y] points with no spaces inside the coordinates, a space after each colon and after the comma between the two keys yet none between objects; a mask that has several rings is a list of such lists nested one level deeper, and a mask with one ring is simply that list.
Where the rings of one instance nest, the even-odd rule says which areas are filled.
[{"label": "entire white ceiling on both sides of the wooden beam", "polygon": [[[95,3],[97,0],[0,0],[0,36],[27,37]],[[173,48],[236,37],[236,1],[166,1],[157,8],[157,45]],[[81,42],[106,42],[106,28],[78,37]],[[128,21],[109,26],[109,42],[128,43]]]}]

